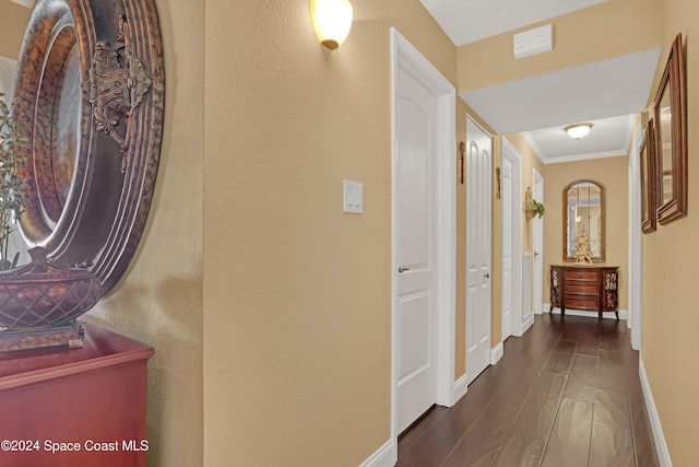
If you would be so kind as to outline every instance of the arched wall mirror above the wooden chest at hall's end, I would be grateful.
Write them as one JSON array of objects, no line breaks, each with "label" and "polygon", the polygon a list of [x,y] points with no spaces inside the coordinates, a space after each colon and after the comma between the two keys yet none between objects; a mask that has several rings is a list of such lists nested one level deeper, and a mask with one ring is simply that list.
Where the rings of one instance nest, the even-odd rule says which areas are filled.
[{"label": "arched wall mirror above the wooden chest at hall's end", "polygon": [[605,260],[605,189],[593,180],[576,180],[564,188],[564,260],[574,260],[578,236],[590,245],[593,261]]}]

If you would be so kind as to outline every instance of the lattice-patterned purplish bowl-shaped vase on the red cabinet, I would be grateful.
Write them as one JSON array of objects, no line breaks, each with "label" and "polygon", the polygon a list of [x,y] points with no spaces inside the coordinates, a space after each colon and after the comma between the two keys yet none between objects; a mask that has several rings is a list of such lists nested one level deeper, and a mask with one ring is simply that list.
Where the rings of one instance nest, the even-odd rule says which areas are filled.
[{"label": "lattice-patterned purplish bowl-shaped vase on the red cabinet", "polygon": [[29,249],[32,262],[0,272],[0,331],[27,331],[69,324],[95,306],[102,284],[88,270],[60,268],[46,249]]}]

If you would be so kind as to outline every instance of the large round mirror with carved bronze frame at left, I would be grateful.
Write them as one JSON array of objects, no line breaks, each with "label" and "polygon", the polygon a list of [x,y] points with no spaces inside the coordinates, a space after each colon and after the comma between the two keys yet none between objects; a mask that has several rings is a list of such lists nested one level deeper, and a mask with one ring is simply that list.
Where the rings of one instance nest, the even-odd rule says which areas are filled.
[{"label": "large round mirror with carved bronze frame at left", "polygon": [[38,0],[17,62],[15,117],[32,144],[21,232],[106,294],[153,198],[165,73],[153,0]]}]

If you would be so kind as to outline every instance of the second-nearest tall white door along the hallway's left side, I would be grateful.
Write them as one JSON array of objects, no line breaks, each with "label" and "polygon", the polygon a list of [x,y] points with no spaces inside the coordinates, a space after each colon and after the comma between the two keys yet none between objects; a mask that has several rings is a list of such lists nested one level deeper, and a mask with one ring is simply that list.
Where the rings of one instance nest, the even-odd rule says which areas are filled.
[{"label": "second-nearest tall white door along the hallway's left side", "polygon": [[493,138],[466,120],[466,384],[471,384],[490,363]]}]

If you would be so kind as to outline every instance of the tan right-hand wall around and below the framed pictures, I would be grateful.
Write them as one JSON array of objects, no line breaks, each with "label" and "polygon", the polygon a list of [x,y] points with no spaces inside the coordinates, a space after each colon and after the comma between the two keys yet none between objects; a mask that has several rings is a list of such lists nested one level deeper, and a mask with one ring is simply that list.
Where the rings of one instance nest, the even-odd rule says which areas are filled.
[{"label": "tan right-hand wall around and below the framed pictures", "polygon": [[[643,235],[643,342],[641,355],[674,466],[697,463],[697,436],[690,427],[699,418],[699,4],[665,0],[660,75],[672,40],[683,33],[687,67],[688,215]],[[656,80],[657,83],[657,80]],[[650,100],[655,97],[657,84]]]}]

